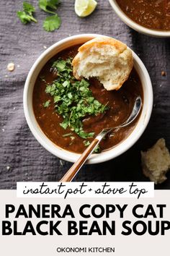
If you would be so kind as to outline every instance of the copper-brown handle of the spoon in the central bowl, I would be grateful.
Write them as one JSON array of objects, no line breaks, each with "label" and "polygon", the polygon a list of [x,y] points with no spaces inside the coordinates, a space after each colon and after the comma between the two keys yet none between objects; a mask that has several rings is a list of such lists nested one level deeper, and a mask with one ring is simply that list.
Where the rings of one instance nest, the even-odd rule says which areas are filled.
[{"label": "copper-brown handle of the spoon in the central bowl", "polygon": [[86,159],[91,155],[93,152],[93,149],[97,146],[99,143],[99,140],[95,138],[91,144],[89,145],[88,148],[82,153],[81,157],[76,161],[76,163],[69,168],[69,170],[66,172],[66,174],[63,176],[63,178],[60,180],[60,182],[71,182],[73,177],[76,175],[76,173],[79,171],[81,166],[86,162]]}]

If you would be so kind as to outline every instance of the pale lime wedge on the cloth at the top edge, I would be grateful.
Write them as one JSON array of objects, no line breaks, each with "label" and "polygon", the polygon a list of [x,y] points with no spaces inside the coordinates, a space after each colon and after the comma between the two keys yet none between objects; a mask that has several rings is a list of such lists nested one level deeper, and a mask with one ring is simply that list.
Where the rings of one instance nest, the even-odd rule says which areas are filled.
[{"label": "pale lime wedge on the cloth at the top edge", "polygon": [[97,7],[97,1],[95,0],[76,0],[75,1],[75,12],[79,17],[86,17],[94,12]]}]

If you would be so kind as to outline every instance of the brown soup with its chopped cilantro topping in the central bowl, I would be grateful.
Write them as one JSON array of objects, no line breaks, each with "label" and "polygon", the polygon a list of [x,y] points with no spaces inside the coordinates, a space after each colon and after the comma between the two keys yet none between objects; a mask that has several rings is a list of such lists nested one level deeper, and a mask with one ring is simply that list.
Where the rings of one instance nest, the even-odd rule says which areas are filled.
[{"label": "brown soup with its chopped cilantro topping in the central bowl", "polygon": [[[79,46],[67,48],[42,68],[33,90],[33,109],[42,132],[59,147],[82,153],[106,127],[128,119],[135,98],[143,98],[138,73],[133,68],[120,90],[104,89],[96,79],[76,80],[71,61]],[[115,147],[133,131],[138,119],[107,136],[95,152]]]}]

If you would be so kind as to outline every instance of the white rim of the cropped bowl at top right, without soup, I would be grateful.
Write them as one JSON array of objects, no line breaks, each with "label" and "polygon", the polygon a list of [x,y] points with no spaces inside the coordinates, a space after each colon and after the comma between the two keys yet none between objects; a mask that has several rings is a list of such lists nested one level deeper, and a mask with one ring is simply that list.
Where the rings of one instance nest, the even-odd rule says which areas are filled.
[{"label": "white rim of the cropped bowl at top right, without soup", "polygon": [[116,12],[116,14],[120,17],[120,19],[123,22],[125,22],[125,24],[127,24],[129,27],[132,27],[134,30],[138,31],[139,33],[151,35],[156,38],[169,38],[170,37],[170,31],[151,30],[147,27],[138,25],[138,23],[131,20],[124,12],[122,12],[122,9],[120,9],[116,0],[109,0],[109,3],[111,4],[111,6],[114,9],[114,11]]}]

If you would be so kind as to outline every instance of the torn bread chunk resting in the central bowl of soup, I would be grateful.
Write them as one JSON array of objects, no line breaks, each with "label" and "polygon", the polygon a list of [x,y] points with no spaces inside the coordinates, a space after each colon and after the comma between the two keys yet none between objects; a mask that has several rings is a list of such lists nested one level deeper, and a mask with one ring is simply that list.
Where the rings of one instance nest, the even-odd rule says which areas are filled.
[{"label": "torn bread chunk resting in the central bowl of soup", "polygon": [[99,36],[79,47],[72,64],[76,79],[97,77],[106,90],[119,90],[133,69],[133,54],[125,43]]}]

